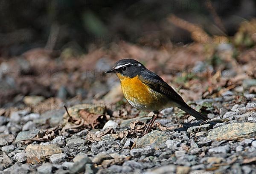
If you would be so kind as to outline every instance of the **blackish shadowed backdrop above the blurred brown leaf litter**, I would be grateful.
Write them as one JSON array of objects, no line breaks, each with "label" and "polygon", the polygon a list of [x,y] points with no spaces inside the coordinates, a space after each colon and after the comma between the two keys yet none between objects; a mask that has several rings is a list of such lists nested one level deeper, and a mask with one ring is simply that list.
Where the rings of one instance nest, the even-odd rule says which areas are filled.
[{"label": "blackish shadowed backdrop above the blurred brown leaf litter", "polygon": [[[226,31],[217,27],[209,4]],[[255,17],[255,6],[253,0],[1,0],[0,55],[12,57],[36,47],[87,53],[92,44],[120,41],[153,47],[191,43],[189,32],[166,20],[170,13],[209,34],[233,36],[241,21]]]}]

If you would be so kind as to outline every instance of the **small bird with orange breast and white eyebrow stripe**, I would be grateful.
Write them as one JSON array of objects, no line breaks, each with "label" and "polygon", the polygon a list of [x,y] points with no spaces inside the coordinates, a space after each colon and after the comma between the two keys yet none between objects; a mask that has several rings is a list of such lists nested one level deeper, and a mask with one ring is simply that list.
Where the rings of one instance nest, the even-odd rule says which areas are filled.
[{"label": "small bird with orange breast and white eyebrow stripe", "polygon": [[159,111],[164,108],[178,107],[197,120],[208,120],[205,115],[188,106],[161,77],[149,71],[137,60],[119,60],[106,73],[116,73],[121,83],[122,92],[132,106],[139,110],[154,112],[144,134],[151,130]]}]

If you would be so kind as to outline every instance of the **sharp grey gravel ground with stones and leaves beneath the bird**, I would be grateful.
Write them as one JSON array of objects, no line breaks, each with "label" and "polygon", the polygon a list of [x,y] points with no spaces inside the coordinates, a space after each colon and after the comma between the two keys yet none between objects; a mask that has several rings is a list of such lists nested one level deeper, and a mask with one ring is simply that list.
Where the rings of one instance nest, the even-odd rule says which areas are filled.
[{"label": "sharp grey gravel ground with stones and leaves beneath the bird", "polygon": [[[237,96],[243,97],[238,104]],[[151,113],[125,120],[113,117],[114,111],[111,117],[103,114],[102,126],[89,128],[63,122],[64,109],[12,111],[0,116],[0,173],[255,174],[255,98],[227,91],[192,104],[212,110],[216,114],[208,117],[223,123],[202,123],[167,108],[145,136],[141,132]]]}]

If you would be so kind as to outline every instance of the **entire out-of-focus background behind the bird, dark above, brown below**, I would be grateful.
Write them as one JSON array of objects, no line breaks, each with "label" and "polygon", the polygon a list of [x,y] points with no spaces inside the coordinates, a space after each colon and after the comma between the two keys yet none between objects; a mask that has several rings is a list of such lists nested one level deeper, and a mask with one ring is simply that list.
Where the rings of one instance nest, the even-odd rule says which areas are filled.
[{"label": "entire out-of-focus background behind the bird, dark above, brown below", "polygon": [[[126,57],[142,61],[174,84],[186,100],[219,95],[216,92],[233,85],[230,78],[238,74],[248,75],[238,85],[245,78],[255,80],[253,67],[238,71],[255,61],[253,0],[0,3],[2,107],[23,103],[24,97],[32,95],[42,100],[102,99],[118,83],[103,71]],[[203,70],[191,77],[189,68]],[[208,79],[216,73],[227,75],[221,84],[217,77]],[[189,88],[198,81],[207,83],[201,90]],[[245,84],[248,90],[254,82],[249,81],[249,87]]]}]

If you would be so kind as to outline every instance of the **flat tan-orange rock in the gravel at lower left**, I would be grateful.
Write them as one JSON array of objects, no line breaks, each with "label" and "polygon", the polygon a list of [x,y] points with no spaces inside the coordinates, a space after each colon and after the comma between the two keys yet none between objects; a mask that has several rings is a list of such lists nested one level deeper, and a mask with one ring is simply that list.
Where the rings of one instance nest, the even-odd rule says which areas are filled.
[{"label": "flat tan-orange rock in the gravel at lower left", "polygon": [[49,158],[53,154],[59,154],[62,152],[61,148],[58,145],[49,144],[49,145],[37,145],[30,144],[26,147],[27,153],[27,163],[40,163],[44,161],[45,158]]}]

